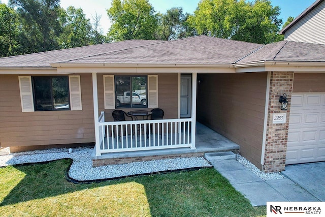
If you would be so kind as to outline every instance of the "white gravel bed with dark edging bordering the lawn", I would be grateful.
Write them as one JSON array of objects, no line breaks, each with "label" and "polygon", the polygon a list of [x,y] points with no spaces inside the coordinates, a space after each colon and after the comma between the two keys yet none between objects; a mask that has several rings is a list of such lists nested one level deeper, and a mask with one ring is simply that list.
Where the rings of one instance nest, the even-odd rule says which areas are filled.
[{"label": "white gravel bed with dark edging bordering the lawn", "polygon": [[92,167],[90,158],[92,152],[92,148],[83,147],[74,148],[72,153],[69,153],[68,148],[11,153],[6,156],[0,156],[0,167],[71,158],[73,163],[68,173],[71,178],[78,181],[109,179],[196,167],[211,167],[204,158],[177,158]]}]

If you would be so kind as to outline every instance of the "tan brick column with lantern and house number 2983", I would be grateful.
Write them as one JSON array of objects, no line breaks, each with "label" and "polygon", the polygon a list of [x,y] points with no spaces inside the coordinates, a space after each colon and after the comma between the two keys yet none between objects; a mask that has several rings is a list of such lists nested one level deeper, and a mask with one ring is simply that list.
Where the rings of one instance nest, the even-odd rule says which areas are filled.
[{"label": "tan brick column with lantern and house number 2983", "polygon": [[[279,172],[285,168],[293,80],[293,72],[271,72],[264,172]],[[289,102],[287,111],[281,110],[279,103],[279,98],[283,94],[287,95]],[[274,113],[286,113],[286,122],[273,123]]]}]

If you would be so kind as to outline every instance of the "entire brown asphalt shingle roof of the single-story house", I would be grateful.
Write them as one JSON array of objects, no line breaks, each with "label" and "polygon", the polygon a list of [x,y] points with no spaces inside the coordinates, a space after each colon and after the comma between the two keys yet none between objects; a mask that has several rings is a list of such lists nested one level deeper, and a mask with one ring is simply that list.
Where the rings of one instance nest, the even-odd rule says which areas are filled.
[{"label": "entire brown asphalt shingle roof of the single-story house", "polygon": [[128,40],[0,58],[0,68],[50,64],[231,65],[259,61],[325,62],[325,45],[281,41],[261,45],[207,36],[174,41]]}]

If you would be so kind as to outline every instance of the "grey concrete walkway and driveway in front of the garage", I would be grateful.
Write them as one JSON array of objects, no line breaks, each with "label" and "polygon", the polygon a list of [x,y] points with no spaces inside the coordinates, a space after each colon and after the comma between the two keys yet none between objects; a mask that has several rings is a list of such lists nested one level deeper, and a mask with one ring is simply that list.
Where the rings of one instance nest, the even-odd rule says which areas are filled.
[{"label": "grey concrete walkway and driveway in front of the garage", "polygon": [[233,157],[206,159],[252,206],[269,201],[325,201],[325,162],[287,166],[283,179],[264,181]]}]

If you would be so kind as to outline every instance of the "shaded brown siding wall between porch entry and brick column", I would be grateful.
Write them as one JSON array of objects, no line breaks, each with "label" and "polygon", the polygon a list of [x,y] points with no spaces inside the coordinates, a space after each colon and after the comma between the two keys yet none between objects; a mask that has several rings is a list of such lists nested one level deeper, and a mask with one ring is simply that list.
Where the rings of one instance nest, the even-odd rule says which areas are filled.
[{"label": "shaded brown siding wall between porch entry and brick column", "polygon": [[262,168],[267,73],[199,74],[197,118]]}]

